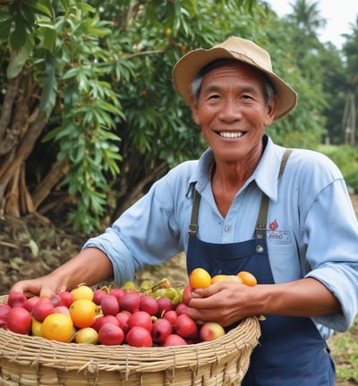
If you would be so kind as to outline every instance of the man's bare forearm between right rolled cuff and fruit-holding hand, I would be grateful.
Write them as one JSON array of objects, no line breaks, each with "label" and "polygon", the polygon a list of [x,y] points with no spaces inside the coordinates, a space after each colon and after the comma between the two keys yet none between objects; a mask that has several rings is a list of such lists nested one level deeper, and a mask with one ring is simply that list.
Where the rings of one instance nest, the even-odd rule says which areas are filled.
[{"label": "man's bare forearm between right rolled cuff and fruit-holding hand", "polygon": [[342,312],[337,298],[315,279],[260,285],[255,290],[253,304],[258,314],[309,317]]}]

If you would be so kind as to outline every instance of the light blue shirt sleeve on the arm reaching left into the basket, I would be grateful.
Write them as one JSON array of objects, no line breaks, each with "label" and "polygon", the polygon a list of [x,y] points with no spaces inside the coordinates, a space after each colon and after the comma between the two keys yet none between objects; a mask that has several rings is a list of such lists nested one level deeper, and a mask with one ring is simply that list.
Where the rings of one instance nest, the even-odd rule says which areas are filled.
[{"label": "light blue shirt sleeve on the arm reaching left into the basket", "polygon": [[186,199],[187,185],[180,184],[183,191],[176,189],[178,180],[176,170],[166,174],[103,234],[83,246],[98,248],[108,256],[112,279],[118,285],[132,280],[145,265],[162,264],[183,250],[175,214],[181,207],[178,201]]}]

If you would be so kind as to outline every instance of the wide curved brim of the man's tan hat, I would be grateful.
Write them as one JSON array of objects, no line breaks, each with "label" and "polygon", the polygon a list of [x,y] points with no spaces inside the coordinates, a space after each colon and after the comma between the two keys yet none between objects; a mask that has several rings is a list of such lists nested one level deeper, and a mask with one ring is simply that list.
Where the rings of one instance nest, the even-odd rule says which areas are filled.
[{"label": "wide curved brim of the man's tan hat", "polygon": [[267,71],[260,67],[258,63],[254,63],[248,56],[228,51],[222,47],[195,49],[184,55],[175,64],[173,68],[173,83],[179,95],[183,97],[188,105],[190,104],[192,81],[203,67],[217,59],[234,59],[247,63],[268,76],[278,96],[275,121],[282,119],[294,109],[297,104],[297,94],[284,80],[281,80],[274,72]]}]

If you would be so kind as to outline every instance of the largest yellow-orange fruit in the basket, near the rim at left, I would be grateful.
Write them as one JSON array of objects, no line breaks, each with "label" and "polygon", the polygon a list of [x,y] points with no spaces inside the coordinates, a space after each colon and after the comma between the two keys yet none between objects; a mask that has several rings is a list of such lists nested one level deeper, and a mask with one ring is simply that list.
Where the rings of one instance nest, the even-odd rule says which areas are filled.
[{"label": "largest yellow-orange fruit in the basket, near the rim at left", "polygon": [[48,315],[41,325],[42,338],[69,342],[72,340],[73,323],[71,317],[64,314]]}]

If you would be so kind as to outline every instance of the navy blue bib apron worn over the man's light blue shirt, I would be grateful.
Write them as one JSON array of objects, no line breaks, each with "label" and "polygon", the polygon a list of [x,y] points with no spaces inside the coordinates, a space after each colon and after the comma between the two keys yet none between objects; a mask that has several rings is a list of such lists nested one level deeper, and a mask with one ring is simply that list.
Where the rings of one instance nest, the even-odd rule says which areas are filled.
[{"label": "navy blue bib apron worn over the man's light blue shirt", "polygon": [[[198,239],[199,205],[200,194],[195,190],[186,257],[188,273],[197,267],[206,269],[211,276],[248,271],[259,284],[274,284],[266,241],[268,197],[262,196],[253,239],[238,243],[214,244]],[[266,320],[260,323],[260,342],[252,352],[242,385],[333,386],[335,368],[329,348],[311,318],[265,316]]]}]

